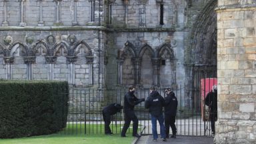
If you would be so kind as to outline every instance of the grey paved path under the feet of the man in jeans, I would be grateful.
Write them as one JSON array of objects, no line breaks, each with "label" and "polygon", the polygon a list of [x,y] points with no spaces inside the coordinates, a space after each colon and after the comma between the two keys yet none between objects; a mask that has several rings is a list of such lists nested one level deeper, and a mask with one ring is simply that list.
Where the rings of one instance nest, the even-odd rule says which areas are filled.
[{"label": "grey paved path under the feet of the man in jeans", "polygon": [[167,141],[162,141],[157,139],[157,141],[152,141],[152,135],[145,135],[139,138],[135,144],[158,144],[158,143],[177,143],[177,144],[213,144],[213,137],[196,137],[196,136],[177,136],[176,139],[167,139]]}]

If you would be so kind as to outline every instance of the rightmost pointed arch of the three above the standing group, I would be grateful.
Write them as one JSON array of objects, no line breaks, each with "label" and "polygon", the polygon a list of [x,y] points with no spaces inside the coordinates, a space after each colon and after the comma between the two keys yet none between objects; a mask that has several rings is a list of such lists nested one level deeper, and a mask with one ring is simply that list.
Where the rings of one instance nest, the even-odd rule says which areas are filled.
[{"label": "rightmost pointed arch of the three above the standing group", "polygon": [[157,57],[165,57],[167,59],[174,59],[175,58],[175,54],[173,49],[171,49],[171,45],[170,44],[163,44],[159,51],[157,51]]}]

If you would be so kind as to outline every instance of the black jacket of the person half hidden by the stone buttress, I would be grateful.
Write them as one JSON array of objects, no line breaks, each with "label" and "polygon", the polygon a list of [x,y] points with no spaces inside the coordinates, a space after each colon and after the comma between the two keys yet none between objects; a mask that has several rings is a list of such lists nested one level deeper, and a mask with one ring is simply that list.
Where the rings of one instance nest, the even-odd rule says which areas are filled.
[{"label": "black jacket of the person half hidden by the stone buttress", "polygon": [[205,98],[205,105],[208,105],[211,113],[217,113],[217,91],[210,91]]}]

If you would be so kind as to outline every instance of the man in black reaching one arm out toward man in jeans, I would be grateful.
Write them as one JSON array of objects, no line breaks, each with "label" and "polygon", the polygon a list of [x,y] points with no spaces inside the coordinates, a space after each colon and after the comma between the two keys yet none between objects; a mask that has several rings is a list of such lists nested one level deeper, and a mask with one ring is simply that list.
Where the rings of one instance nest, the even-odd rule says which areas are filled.
[{"label": "man in black reaching one arm out toward man in jeans", "polygon": [[123,129],[121,131],[121,137],[126,137],[125,133],[130,126],[131,121],[133,121],[133,137],[141,137],[138,133],[138,123],[139,120],[134,113],[135,105],[145,101],[145,99],[138,99],[134,95],[135,87],[129,86],[129,91],[125,94],[124,106],[123,110],[125,113],[125,124],[123,125]]}]

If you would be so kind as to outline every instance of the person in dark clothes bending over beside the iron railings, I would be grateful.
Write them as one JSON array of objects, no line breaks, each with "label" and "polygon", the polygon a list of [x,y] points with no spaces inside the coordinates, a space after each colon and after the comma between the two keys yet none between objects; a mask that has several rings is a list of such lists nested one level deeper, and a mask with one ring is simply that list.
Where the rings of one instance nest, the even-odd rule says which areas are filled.
[{"label": "person in dark clothes bending over beside the iron railings", "polygon": [[107,107],[103,108],[102,114],[103,114],[103,119],[105,122],[105,134],[106,135],[113,134],[109,127],[109,125],[111,123],[111,115],[115,115],[115,113],[120,112],[121,109],[123,109],[123,107],[118,103],[111,103],[110,105],[107,105]]}]

